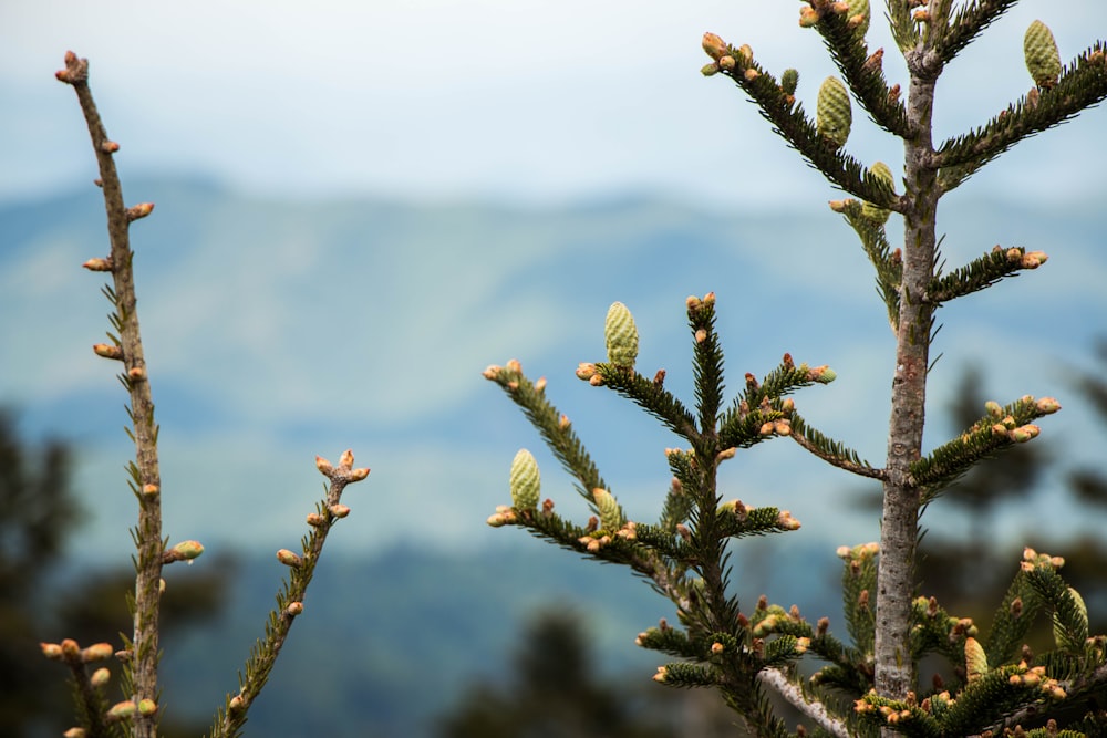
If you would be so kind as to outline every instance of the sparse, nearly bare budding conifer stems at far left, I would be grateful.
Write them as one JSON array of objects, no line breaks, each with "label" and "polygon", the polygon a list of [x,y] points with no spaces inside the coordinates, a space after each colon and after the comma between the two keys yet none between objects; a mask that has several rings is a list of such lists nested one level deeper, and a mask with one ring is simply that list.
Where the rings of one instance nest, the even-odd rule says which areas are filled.
[{"label": "sparse, nearly bare budding conifer stems at far left", "polygon": [[[124,206],[114,160],[120,146],[107,137],[93,101],[89,89],[87,60],[68,52],[65,69],[58,72],[56,77],[76,92],[100,166],[101,178],[96,184],[104,193],[111,252],[106,258],[90,259],[83,266],[90,271],[112,276],[112,284],[103,290],[113,308],[108,314],[112,332],[107,334],[108,343],[99,343],[93,350],[99,356],[123,364],[118,378],[131,403],[127,407],[131,420],[127,435],[135,443],[135,460],[130,464],[128,471],[131,491],[138,502],[138,521],[132,529],[137,549],[134,558],[135,592],[128,602],[134,619],[133,634],[130,637],[121,636],[121,647],[107,642],[81,647],[75,640],[65,638],[60,643],[43,643],[42,653],[70,668],[80,725],[66,731],[66,736],[154,738],[158,734],[163,701],[157,682],[162,654],[159,601],[161,593],[166,588],[163,569],[178,561],[192,562],[204,552],[204,547],[197,541],[182,541],[170,547],[162,534],[163,490],[157,457],[158,426],[154,420],[149,372],[138,330],[132,269],[135,253],[130,243],[131,224],[147,217],[154,205],[143,202],[131,208]],[[342,492],[348,485],[361,481],[369,475],[369,469],[353,467],[351,451],[342,454],[337,466],[321,457],[315,458],[315,465],[329,480],[325,498],[307,517],[311,532],[301,540],[300,553],[288,549],[277,552],[278,560],[290,570],[289,578],[277,593],[277,607],[269,614],[263,640],[254,646],[239,674],[238,689],[228,694],[225,705],[216,710],[210,731],[213,738],[240,734],[249,708],[265,687],[292,622],[303,611],[303,596],[327,534],[338,520],[350,512],[341,503]],[[95,667],[113,657],[123,665],[123,699],[114,704],[107,697],[112,679],[110,671],[106,667]]]}]

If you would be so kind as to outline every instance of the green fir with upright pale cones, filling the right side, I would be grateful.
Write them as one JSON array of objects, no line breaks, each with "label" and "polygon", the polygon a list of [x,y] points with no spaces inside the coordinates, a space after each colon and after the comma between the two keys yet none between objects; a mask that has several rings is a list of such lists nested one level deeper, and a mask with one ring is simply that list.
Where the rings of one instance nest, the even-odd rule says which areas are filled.
[{"label": "green fir with upright pale cones, filling the right side", "polygon": [[[1055,735],[1058,725],[1076,735],[1107,728],[1096,701],[1107,690],[1107,636],[1089,634],[1082,599],[1057,571],[1063,561],[1026,550],[986,638],[971,620],[946,613],[933,597],[915,596],[919,521],[927,506],[983,458],[1036,437],[1034,420],[1059,409],[1049,397],[990,402],[962,434],[924,451],[935,311],[1046,261],[1041,251],[996,247],[945,271],[937,236],[939,201],[1013,145],[1107,96],[1104,43],[1062,65],[1052,33],[1035,21],[1024,42],[1034,86],[985,124],[935,145],[932,112],[945,65],[1014,2],[953,4],[887,3],[892,37],[910,77],[904,91],[886,80],[883,50],[870,51],[866,43],[868,0],[805,2],[799,24],[821,34],[842,76],[823,82],[814,121],[796,102],[795,70],[777,79],[748,45],[735,48],[712,33],[703,38],[711,58],[703,73],[733,80],[792,148],[832,186],[853,196],[830,207],[845,217],[872,262],[896,335],[883,466],[869,464],[817,430],[787,397],[800,387],[830,382],[835,375],[826,367],[796,365],[786,355],[759,381],[746,374],[742,392],[731,402],[724,399],[713,294],[689,298],[686,305],[694,406],[665,387],[663,371],[649,377],[635,370],[637,329],[620,303],[608,313],[607,361],[583,363],[577,371],[581,380],[630,398],[686,444],[666,450],[673,479],[656,522],[624,517],[571,424],[546,398],[544,381],[531,382],[516,361],[485,371],[520,406],[594,512],[581,526],[561,518],[550,500],[539,502],[537,464],[520,451],[511,467],[511,505],[499,508],[489,524],[526,528],[646,578],[675,604],[679,616],[679,625],[663,621],[639,636],[640,645],[680,659],[660,667],[654,678],[718,689],[757,735],[788,732],[765,698],[766,687],[799,707],[818,729],[837,736],[878,730],[964,736],[1003,728],[1023,731],[1023,726]],[[866,167],[844,149],[853,101],[902,141],[902,194],[896,191],[891,167],[879,162]],[[892,249],[887,238],[884,224],[891,214],[903,221],[902,248]],[[839,550],[846,564],[848,643],[830,634],[827,619],[813,624],[797,610],[764,600],[743,609],[728,586],[732,540],[799,527],[787,511],[724,501],[717,487],[720,465],[775,436],[790,437],[831,466],[882,485],[880,542]],[[1039,613],[1052,616],[1055,647],[1034,655],[1023,640]],[[795,668],[805,653],[823,662],[809,682]],[[953,667],[950,682],[919,683],[919,664],[930,656]]]}]

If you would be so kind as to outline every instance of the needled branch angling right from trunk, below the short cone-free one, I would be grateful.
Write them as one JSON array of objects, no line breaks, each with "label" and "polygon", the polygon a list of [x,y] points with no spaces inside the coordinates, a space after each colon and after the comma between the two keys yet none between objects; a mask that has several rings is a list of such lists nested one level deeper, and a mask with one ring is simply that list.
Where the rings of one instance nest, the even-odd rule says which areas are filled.
[{"label": "needled branch angling right from trunk, below the short cone-free one", "polygon": [[1038,427],[1032,425],[1031,420],[1061,409],[1061,405],[1052,397],[1035,401],[1030,395],[1005,407],[1000,407],[996,403],[989,403],[986,407],[989,414],[960,437],[911,464],[910,472],[914,484],[924,488],[923,503],[934,499],[942,489],[981,459],[1036,437]]}]

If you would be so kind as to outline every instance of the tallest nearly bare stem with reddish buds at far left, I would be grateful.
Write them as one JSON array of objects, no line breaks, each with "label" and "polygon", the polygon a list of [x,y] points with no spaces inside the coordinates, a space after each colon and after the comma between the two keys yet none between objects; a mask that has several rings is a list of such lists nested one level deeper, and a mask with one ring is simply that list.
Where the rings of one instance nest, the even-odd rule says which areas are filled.
[{"label": "tallest nearly bare stem with reddish buds at far left", "polygon": [[[85,268],[93,271],[110,271],[114,287],[110,294],[115,313],[112,325],[118,331],[115,345],[97,344],[96,353],[106,358],[122,361],[124,372],[121,381],[130,395],[128,414],[134,424],[132,438],[135,441],[135,464],[133,465],[135,497],[138,500],[138,523],[135,529],[137,557],[135,558],[135,606],[134,634],[131,640],[132,656],[124,666],[124,685],[127,697],[136,705],[156,706],[159,689],[157,666],[161,658],[158,648],[158,614],[161,607],[162,554],[162,480],[157,459],[157,426],[154,423],[152,398],[146,360],[143,355],[142,333],[138,329],[137,298],[135,294],[133,252],[131,251],[131,222],[149,215],[153,204],[146,202],[126,208],[123,202],[123,187],[115,168],[113,155],[117,143],[107,137],[107,131],[96,110],[92,91],[89,89],[89,60],[79,59],[72,51],[65,53],[65,69],[55,75],[59,81],[76,92],[81,112],[89,126],[92,147],[100,168],[100,186],[104,193],[107,210],[107,231],[111,253],[106,259],[92,259]],[[128,433],[131,433],[128,430]],[[157,735],[158,710],[138,710],[134,715],[135,738],[155,738]]]}]

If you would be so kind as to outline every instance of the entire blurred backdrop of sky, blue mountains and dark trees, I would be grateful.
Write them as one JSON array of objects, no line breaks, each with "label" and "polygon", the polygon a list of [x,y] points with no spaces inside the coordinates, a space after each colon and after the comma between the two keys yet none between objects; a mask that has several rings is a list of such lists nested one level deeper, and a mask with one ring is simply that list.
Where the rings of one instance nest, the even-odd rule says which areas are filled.
[{"label": "entire blurred backdrop of sky, blue mountains and dark trees", "polygon": [[[888,75],[906,86],[876,6],[870,48],[887,49]],[[10,665],[0,692],[22,695],[0,699],[11,735],[68,725],[51,716],[68,705],[64,689],[44,685],[63,675],[39,663],[38,641],[127,630],[133,447],[115,366],[90,351],[110,305],[101,276],[80,264],[106,254],[107,241],[83,119],[53,80],[68,49],[91,61],[128,204],[156,204],[132,239],[165,530],[207,548],[168,571],[167,724],[204,725],[237,688],[283,573],[273,551],[296,548],[321,496],[313,456],[352,448],[373,471],[346,493],[353,512],[329,539],[250,732],[497,735],[507,719],[508,735],[523,735],[518,725],[539,716],[582,725],[566,706],[594,700],[603,725],[619,726],[610,735],[714,735],[700,703],[659,711],[649,678],[659,657],[633,646],[638,631],[672,617],[668,603],[627,572],[485,526],[509,501],[519,447],[538,457],[544,496],[588,513],[480,371],[515,357],[547,376],[630,517],[651,519],[668,487],[663,450],[679,440],[573,370],[603,358],[603,316],[619,300],[639,325],[640,370],[664,367],[692,402],[684,298],[715,291],[730,386],[786,351],[829,364],[839,378],[800,393],[800,412],[881,462],[892,336],[855,236],[826,206],[841,195],[732,83],[699,74],[711,30],[749,43],[776,73],[798,69],[797,96],[814,111],[832,69],[796,10],[0,4],[0,641]],[[1100,17],[1090,0],[1010,11],[949,67],[939,137],[983,124],[1031,86],[1022,38],[1032,20],[1053,29],[1068,60],[1105,35]],[[1055,395],[1065,407],[1028,449],[928,512],[931,561],[944,573],[923,589],[945,588],[954,602],[981,585],[983,560],[994,559],[1002,588],[1027,542],[1078,552],[1067,571],[1086,570],[1088,586],[1103,571],[1103,117],[1094,110],[1022,144],[942,204],[948,268],[995,243],[1044,250],[1049,262],[942,311],[928,447],[985,399]],[[901,166],[897,141],[856,108],[847,148]],[[893,219],[893,241],[898,230]],[[877,537],[875,490],[783,439],[726,474],[728,497],[804,523],[735,548],[742,596],[766,592],[840,623],[834,550]],[[581,692],[551,697],[566,684]],[[649,716],[644,727],[634,715]]]}]

